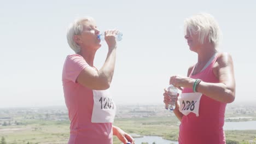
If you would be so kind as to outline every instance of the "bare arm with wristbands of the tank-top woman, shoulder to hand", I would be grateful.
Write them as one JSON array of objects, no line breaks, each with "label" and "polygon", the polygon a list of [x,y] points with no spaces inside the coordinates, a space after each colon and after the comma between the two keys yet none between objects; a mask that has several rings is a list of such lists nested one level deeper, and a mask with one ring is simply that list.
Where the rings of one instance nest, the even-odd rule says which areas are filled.
[{"label": "bare arm with wristbands of the tank-top woman, shoulder to hand", "polygon": [[[228,53],[221,53],[213,67],[214,75],[219,83],[199,83],[197,92],[205,94],[222,103],[232,103],[235,100],[235,77],[232,57]],[[170,83],[176,87],[193,88],[195,79],[190,77],[172,76]]]}]

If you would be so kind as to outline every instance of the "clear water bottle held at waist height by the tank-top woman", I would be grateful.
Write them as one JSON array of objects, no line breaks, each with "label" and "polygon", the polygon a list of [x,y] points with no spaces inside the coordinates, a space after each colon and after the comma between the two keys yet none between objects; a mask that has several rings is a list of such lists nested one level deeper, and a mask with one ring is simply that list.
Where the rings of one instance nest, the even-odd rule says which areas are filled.
[{"label": "clear water bottle held at waist height by the tank-top woman", "polygon": [[175,109],[175,102],[177,99],[178,89],[174,87],[173,85],[168,86],[167,88],[167,94],[171,98],[170,104],[165,104],[165,109],[170,109],[171,111]]}]

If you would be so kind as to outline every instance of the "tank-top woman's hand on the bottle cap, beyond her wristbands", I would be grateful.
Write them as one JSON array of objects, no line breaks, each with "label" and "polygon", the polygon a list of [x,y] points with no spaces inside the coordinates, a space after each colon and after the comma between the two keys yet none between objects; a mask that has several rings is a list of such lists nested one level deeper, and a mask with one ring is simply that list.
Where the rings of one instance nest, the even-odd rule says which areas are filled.
[{"label": "tank-top woman's hand on the bottle cap, beyond her wristbands", "polygon": [[182,87],[193,87],[193,81],[190,77],[174,75],[170,78],[170,85],[177,87],[182,91]]}]

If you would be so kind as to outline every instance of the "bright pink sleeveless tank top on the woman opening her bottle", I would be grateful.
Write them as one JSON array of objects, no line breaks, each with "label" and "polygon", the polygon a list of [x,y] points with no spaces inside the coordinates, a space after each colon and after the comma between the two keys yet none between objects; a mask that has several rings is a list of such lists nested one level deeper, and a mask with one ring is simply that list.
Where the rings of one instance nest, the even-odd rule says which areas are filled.
[{"label": "bright pink sleeveless tank top on the woman opening her bottle", "polygon": [[[192,75],[194,66],[189,77],[201,79],[204,82],[218,83],[219,80],[213,73],[213,65],[217,58],[218,55],[206,69]],[[184,88],[182,93],[193,93],[193,89]],[[184,115],[182,117],[181,125],[179,125],[179,144],[226,143],[223,131],[225,107],[226,104],[202,95],[199,105],[199,116],[190,112],[187,116]]]}]

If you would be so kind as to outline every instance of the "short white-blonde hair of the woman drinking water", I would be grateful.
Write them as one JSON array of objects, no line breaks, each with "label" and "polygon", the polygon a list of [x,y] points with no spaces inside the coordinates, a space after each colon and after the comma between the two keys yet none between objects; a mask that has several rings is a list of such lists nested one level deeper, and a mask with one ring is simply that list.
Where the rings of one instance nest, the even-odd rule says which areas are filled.
[{"label": "short white-blonde hair of the woman drinking water", "polygon": [[94,20],[92,17],[86,16],[76,19],[67,29],[67,41],[68,45],[74,50],[75,53],[80,52],[80,46],[75,43],[74,35],[81,34],[83,32],[84,22]]}]

